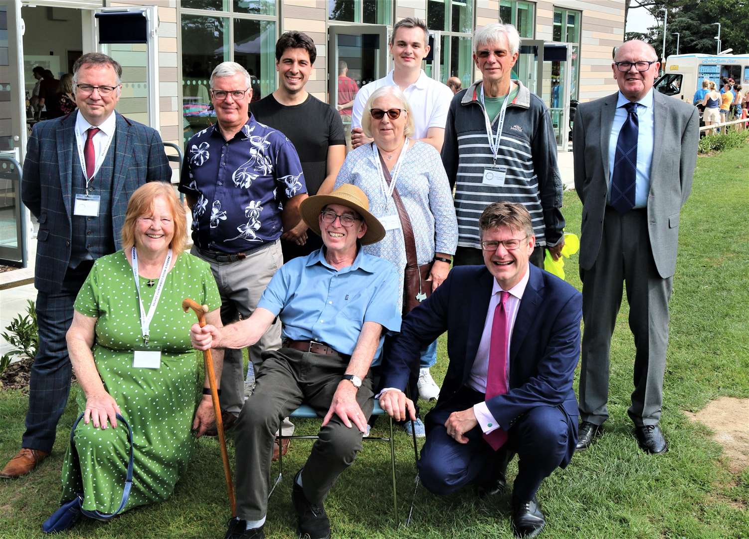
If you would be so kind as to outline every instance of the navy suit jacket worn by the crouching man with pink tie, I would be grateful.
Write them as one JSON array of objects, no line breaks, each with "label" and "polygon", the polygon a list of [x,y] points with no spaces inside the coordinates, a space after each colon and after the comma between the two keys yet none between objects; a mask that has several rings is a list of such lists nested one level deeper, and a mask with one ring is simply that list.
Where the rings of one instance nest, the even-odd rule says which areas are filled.
[{"label": "navy suit jacket worn by the crouching man with pink tie", "polygon": [[[452,268],[442,285],[404,318],[383,362],[382,388],[406,387],[411,370],[418,368],[419,349],[447,331],[449,366],[437,405],[427,415],[427,427],[442,424],[452,397],[467,385],[486,321],[494,277],[485,266]],[[530,277],[518,307],[510,340],[509,391],[487,401],[491,415],[509,430],[536,406],[557,406],[565,412],[571,435],[568,458],[577,432],[572,388],[580,356],[582,295],[554,275],[530,265]]]}]

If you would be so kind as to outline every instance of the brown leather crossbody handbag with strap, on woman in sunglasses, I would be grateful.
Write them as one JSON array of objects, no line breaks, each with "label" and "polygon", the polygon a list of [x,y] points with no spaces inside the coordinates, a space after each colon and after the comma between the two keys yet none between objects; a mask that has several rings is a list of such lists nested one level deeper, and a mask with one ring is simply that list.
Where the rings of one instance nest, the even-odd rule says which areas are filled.
[{"label": "brown leather crossbody handbag with strap, on woman in sunglasses", "polygon": [[[382,154],[377,151],[382,163],[382,172],[385,175],[387,184],[390,184],[392,178],[390,171],[387,169]],[[413,228],[411,220],[408,217],[406,208],[403,205],[401,196],[398,194],[398,188],[392,190],[392,200],[395,202],[395,208],[398,210],[398,217],[401,220],[401,229],[403,229],[403,239],[406,245],[406,269],[403,278],[403,314],[404,316],[411,310],[415,309],[422,301],[431,295],[431,280],[429,272],[434,260],[428,264],[417,264],[416,259],[416,241],[413,239]]]}]

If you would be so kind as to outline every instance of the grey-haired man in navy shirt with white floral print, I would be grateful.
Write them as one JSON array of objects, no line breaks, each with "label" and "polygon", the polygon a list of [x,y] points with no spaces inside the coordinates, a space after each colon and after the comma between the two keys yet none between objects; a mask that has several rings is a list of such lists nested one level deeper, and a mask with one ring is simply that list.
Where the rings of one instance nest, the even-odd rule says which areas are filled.
[{"label": "grey-haired man in navy shirt with white floral print", "polygon": [[[279,238],[294,241],[299,205],[307,198],[294,145],[248,115],[249,73],[225,61],[210,76],[215,125],[187,143],[179,190],[192,208],[192,254],[210,263],[221,292],[224,324],[249,318],[267,283],[283,264]],[[249,116],[249,117],[248,117]],[[286,229],[286,232],[284,232]],[[270,326],[249,348],[259,364],[265,350],[281,346],[281,324]],[[224,426],[244,401],[241,350],[227,349],[220,396]]]}]

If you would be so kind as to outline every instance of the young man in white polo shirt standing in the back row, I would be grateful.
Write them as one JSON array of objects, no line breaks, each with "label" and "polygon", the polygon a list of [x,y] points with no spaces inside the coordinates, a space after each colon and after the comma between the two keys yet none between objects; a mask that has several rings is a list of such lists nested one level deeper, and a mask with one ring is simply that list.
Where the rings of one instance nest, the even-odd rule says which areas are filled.
[{"label": "young man in white polo shirt standing in the back row", "polygon": [[421,68],[429,53],[429,35],[426,23],[416,17],[407,17],[395,23],[390,37],[390,54],[394,69],[382,79],[370,82],[357,94],[351,114],[351,145],[372,142],[362,132],[362,114],[369,96],[380,86],[399,86],[405,94],[416,124],[414,138],[442,150],[447,123],[447,111],[452,91],[441,82],[430,79]]}]

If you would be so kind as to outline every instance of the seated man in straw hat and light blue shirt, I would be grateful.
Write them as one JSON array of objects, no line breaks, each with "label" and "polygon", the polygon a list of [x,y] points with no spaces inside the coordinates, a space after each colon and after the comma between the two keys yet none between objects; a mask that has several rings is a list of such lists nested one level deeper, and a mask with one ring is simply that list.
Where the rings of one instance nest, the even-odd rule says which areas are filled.
[{"label": "seated man in straw hat and light blue shirt", "polygon": [[359,187],[345,184],[300,206],[324,247],[287,262],[270,280],[249,319],[223,328],[193,325],[192,345],[244,348],[278,316],[282,348],[266,352],[255,391],[236,429],[237,518],[227,538],[264,538],[273,440],[282,418],[302,403],[324,416],[320,437],[294,478],[300,536],[330,537],[323,500],[361,449],[372,414],[369,364],[385,331],[401,327],[395,267],[361,250],[385,235]]}]

